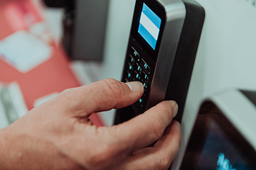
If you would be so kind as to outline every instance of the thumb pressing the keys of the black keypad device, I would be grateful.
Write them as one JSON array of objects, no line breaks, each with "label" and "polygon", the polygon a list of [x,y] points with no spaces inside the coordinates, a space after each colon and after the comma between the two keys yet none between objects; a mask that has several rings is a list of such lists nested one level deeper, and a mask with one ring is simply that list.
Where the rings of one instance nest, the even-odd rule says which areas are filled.
[{"label": "thumb pressing the keys of the black keypad device", "polygon": [[88,116],[95,112],[129,106],[138,101],[143,93],[144,87],[139,81],[125,84],[115,79],[104,79],[65,90],[58,97],[62,98],[60,101],[65,110]]}]

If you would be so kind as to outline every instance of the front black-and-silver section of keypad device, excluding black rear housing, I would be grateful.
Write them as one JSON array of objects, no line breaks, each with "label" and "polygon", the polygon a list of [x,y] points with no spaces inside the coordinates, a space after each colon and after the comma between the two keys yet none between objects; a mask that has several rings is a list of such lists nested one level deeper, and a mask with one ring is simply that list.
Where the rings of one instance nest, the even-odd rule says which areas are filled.
[{"label": "front black-and-silver section of keypad device, excluding black rear housing", "polygon": [[122,78],[144,84],[135,115],[164,100],[185,16],[180,0],[136,2]]}]

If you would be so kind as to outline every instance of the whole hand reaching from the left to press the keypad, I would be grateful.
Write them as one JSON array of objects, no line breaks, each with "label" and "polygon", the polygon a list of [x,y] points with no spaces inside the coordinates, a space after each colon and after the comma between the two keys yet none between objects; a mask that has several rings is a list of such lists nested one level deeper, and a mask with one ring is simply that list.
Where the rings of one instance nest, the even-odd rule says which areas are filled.
[{"label": "whole hand reaching from the left to press the keypad", "polygon": [[181,141],[174,101],[112,127],[88,118],[143,93],[139,82],[114,79],[63,91],[0,130],[0,169],[168,169]]}]

